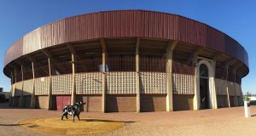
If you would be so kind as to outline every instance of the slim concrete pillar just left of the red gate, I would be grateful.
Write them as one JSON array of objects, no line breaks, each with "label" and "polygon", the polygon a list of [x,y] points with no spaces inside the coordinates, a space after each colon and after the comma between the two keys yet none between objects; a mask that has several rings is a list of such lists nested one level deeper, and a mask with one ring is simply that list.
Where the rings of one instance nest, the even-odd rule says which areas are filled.
[{"label": "slim concrete pillar just left of the red gate", "polygon": [[48,110],[53,110],[53,105],[52,105],[52,79],[51,79],[51,62],[52,59],[48,57],[48,66],[49,66],[49,93],[48,93]]}]

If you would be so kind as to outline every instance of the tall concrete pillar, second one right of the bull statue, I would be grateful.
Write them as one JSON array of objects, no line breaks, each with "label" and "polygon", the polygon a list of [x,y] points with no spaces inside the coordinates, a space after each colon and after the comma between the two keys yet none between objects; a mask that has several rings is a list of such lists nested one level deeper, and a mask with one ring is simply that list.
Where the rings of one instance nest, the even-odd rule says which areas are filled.
[{"label": "tall concrete pillar, second one right of the bull statue", "polygon": [[140,46],[140,38],[137,37],[137,44],[136,44],[136,92],[137,92],[137,112],[141,111],[141,104],[140,104],[140,73],[139,73],[139,46]]}]

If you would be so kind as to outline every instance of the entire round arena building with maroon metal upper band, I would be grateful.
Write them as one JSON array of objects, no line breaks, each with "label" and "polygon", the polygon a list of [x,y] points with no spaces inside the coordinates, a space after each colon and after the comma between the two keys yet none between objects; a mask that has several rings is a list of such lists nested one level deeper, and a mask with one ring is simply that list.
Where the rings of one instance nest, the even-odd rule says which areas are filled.
[{"label": "entire round arena building with maroon metal upper band", "polygon": [[7,50],[10,106],[183,111],[242,105],[239,42],[177,14],[120,10],[57,20]]}]

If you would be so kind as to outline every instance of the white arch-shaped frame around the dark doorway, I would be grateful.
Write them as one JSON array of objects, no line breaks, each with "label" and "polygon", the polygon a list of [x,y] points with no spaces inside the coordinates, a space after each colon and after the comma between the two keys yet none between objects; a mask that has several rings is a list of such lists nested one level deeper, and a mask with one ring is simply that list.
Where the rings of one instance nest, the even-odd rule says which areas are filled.
[{"label": "white arch-shaped frame around the dark doorway", "polygon": [[[215,89],[215,73],[214,73],[214,66],[212,61],[207,59],[201,59],[198,64],[196,65],[196,92],[195,92],[195,99],[197,101],[197,109],[200,109],[200,65],[204,64],[207,65],[208,68],[208,76],[209,76],[209,107],[212,109],[217,109],[217,97],[216,97],[216,89]],[[196,105],[196,103],[195,103]]]}]

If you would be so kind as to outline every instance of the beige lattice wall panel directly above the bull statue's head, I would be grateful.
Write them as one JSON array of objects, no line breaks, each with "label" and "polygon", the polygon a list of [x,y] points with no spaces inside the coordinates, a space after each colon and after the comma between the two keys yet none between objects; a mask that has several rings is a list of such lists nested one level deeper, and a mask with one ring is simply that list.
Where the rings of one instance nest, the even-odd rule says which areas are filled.
[{"label": "beige lattice wall panel directly above the bull statue's head", "polygon": [[102,73],[88,72],[75,75],[76,94],[102,94]]}]

